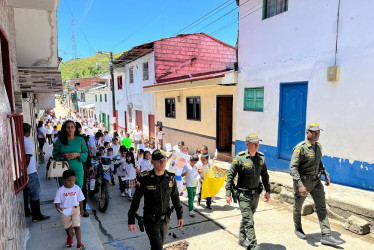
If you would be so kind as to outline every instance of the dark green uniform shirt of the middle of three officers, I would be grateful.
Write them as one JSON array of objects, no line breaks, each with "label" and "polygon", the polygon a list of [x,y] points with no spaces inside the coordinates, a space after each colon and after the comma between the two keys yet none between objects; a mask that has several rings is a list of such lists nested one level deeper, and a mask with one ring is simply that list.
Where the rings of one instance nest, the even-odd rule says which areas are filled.
[{"label": "dark green uniform shirt of the middle of three officers", "polygon": [[248,189],[258,188],[261,176],[266,192],[270,192],[269,174],[263,153],[257,152],[254,157],[251,157],[248,150],[246,150],[235,156],[227,174],[227,196],[231,195],[231,187],[234,185],[236,174],[238,174],[237,187]]}]

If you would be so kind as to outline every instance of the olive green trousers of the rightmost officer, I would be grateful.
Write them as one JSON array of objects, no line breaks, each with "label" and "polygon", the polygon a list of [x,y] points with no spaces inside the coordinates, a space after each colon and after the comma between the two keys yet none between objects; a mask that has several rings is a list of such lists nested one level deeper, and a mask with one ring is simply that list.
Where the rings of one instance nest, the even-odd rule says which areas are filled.
[{"label": "olive green trousers of the rightmost officer", "polygon": [[[319,226],[322,234],[329,234],[331,232],[329,218],[326,210],[326,199],[325,191],[321,183],[321,179],[318,180],[302,180],[306,190],[312,196],[314,204],[317,210],[317,216],[319,220]],[[293,206],[293,221],[296,230],[302,229],[301,226],[301,208],[306,199],[306,196],[301,196],[297,183],[294,181],[294,206]]]}]

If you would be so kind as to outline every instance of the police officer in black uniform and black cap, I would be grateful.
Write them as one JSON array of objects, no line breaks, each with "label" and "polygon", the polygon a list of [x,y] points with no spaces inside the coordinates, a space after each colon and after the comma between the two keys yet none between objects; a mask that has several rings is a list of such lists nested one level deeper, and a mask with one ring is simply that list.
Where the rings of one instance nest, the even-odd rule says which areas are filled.
[{"label": "police officer in black uniform and black cap", "polygon": [[183,226],[183,209],[175,174],[165,170],[166,160],[164,151],[156,149],[152,153],[151,162],[154,169],[144,172],[142,177],[138,178],[134,199],[128,212],[128,227],[134,232],[136,211],[144,195],[144,227],[152,250],[163,249],[170,222],[170,198],[176,210],[178,228]]}]

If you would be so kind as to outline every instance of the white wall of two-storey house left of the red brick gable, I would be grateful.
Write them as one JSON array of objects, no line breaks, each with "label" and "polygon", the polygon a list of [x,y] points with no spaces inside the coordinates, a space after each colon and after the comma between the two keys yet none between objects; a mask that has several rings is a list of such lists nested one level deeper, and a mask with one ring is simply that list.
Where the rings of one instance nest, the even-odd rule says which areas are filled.
[{"label": "white wall of two-storey house left of the red brick gable", "polygon": [[[143,63],[148,62],[149,80],[143,81]],[[154,97],[152,93],[145,93],[143,86],[153,84],[155,81],[154,53],[149,53],[143,57],[126,64],[125,67],[116,68],[114,71],[114,85],[116,95],[116,109],[118,110],[118,125],[120,129],[125,128],[125,111],[128,112],[129,104],[132,104],[132,122],[129,122],[127,113],[127,129],[133,130],[136,123],[135,110],[142,111],[143,135],[149,137],[148,115],[155,114]],[[129,68],[134,67],[134,83],[129,83]],[[122,90],[118,90],[117,77],[122,75]],[[110,103],[112,101],[111,92]]]}]

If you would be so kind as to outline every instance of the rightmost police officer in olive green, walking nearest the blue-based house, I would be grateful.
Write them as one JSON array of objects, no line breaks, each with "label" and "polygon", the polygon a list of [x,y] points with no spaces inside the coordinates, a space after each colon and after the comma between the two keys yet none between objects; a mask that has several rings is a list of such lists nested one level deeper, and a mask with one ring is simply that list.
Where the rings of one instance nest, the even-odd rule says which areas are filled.
[{"label": "rightmost police officer in olive green, walking nearest the blue-based house", "polygon": [[322,231],[321,243],[336,246],[343,241],[331,235],[330,223],[327,217],[325,191],[321,183],[321,175],[325,176],[326,186],[330,185],[330,177],[323,165],[322,147],[318,142],[320,135],[318,123],[310,123],[306,127],[305,141],[300,142],[293,149],[290,171],[294,186],[293,220],[295,234],[300,239],[306,239],[301,226],[301,207],[308,193],[312,196],[316,209],[319,224]]}]

